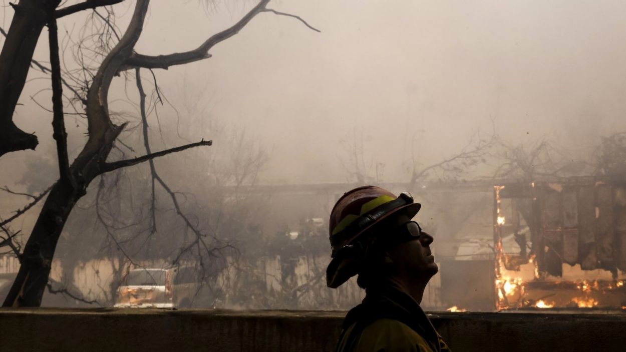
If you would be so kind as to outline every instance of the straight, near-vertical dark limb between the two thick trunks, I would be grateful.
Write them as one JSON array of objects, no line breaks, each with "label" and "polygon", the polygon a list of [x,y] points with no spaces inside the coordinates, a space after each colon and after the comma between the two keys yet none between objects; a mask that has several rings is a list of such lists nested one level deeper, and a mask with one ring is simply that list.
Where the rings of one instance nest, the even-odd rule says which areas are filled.
[{"label": "straight, near-vertical dark limb between the two thick trunks", "polygon": [[59,61],[59,38],[56,18],[51,16],[48,23],[50,44],[50,67],[52,69],[52,137],[56,141],[56,155],[59,158],[59,181],[71,187],[74,183],[69,172],[68,133],[63,118],[63,86],[61,86],[61,63]]}]

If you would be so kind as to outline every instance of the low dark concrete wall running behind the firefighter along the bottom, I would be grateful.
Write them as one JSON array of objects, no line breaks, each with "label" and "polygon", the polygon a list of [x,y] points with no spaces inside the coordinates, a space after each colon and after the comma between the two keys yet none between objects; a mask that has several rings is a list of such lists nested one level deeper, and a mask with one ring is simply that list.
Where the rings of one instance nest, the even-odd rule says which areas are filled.
[{"label": "low dark concrete wall running behind the firefighter along the bottom", "polygon": [[[1,351],[332,351],[345,313],[0,309]],[[622,351],[624,314],[442,313],[453,351]]]}]

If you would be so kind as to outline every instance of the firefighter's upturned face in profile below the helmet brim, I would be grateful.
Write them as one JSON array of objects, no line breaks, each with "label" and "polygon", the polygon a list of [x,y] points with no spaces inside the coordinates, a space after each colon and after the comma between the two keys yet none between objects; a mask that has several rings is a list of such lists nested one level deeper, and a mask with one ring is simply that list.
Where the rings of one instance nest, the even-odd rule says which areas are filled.
[{"label": "firefighter's upturned face in profile below the helmet brim", "polygon": [[[408,216],[400,215],[394,219],[396,228],[411,221]],[[407,226],[406,229],[413,231],[414,236],[418,236],[418,227]],[[393,236],[393,235],[392,235]],[[439,271],[439,267],[434,262],[433,252],[430,244],[433,243],[433,236],[426,232],[421,232],[419,237],[401,241],[389,249],[389,256],[398,266],[398,270],[411,277],[428,281]]]}]

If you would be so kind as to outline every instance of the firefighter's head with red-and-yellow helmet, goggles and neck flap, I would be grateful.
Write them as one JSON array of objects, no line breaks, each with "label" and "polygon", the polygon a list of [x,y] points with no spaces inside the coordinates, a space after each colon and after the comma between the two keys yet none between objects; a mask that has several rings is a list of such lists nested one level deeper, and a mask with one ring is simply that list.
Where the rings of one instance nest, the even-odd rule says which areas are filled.
[{"label": "firefighter's head with red-and-yellow helmet, goggles and neck flap", "polygon": [[344,194],[329,222],[327,285],[338,287],[356,274],[366,289],[391,276],[428,282],[438,267],[429,247],[433,237],[411,220],[420,207],[409,194],[396,197],[379,187]]}]

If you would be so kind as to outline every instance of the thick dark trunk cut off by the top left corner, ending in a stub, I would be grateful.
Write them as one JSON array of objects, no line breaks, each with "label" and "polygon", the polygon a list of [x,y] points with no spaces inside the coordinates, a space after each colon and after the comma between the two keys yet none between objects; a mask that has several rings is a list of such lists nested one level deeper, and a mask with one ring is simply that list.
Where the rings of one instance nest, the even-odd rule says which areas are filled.
[{"label": "thick dark trunk cut off by the top left corner, ending in a stub", "polygon": [[20,0],[0,53],[0,157],[16,150],[34,149],[37,137],[13,123],[13,113],[26,83],[33,52],[48,15],[60,0]]}]

